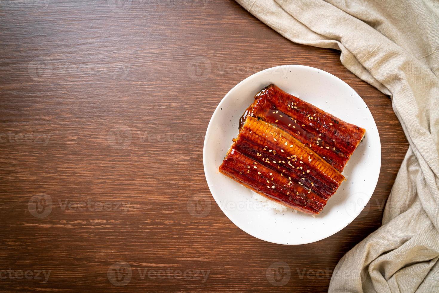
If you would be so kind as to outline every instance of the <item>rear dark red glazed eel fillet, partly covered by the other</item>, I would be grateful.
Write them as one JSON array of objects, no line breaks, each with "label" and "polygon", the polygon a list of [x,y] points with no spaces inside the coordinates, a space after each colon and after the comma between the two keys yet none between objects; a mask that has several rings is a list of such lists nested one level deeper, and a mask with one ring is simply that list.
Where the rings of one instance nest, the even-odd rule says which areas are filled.
[{"label": "rear dark red glazed eel fillet, partly covered by the other", "polygon": [[255,95],[255,101],[241,117],[240,126],[247,116],[261,118],[294,135],[340,172],[366,132],[274,84]]}]

